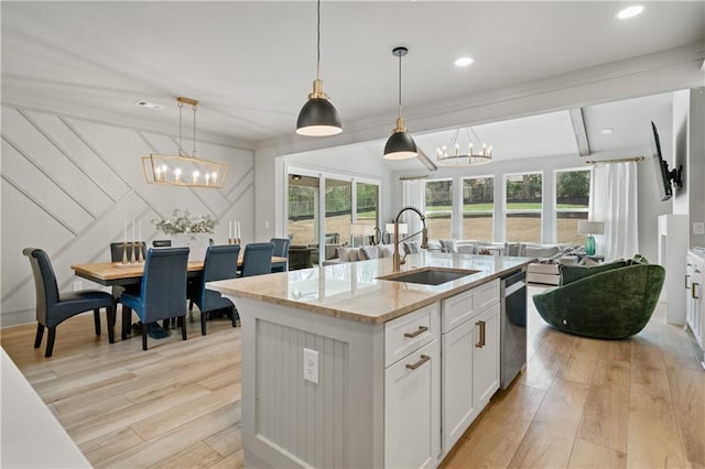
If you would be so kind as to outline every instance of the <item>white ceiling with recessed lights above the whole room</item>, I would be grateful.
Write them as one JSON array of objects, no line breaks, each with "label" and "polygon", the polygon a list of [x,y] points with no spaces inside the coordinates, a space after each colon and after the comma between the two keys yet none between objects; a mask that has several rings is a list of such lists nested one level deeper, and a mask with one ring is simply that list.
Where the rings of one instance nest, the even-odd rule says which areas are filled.
[{"label": "white ceiling with recessed lights above the whole room", "polygon": [[[417,116],[438,102],[705,43],[703,1],[649,1],[640,17],[619,21],[623,6],[324,1],[324,89],[344,128],[383,119],[386,134],[398,111],[397,45],[410,48],[404,114]],[[176,131],[175,98],[186,96],[200,100],[199,132],[256,146],[293,134],[315,77],[314,1],[2,1],[1,9],[3,102]],[[459,55],[476,62],[457,68]],[[165,109],[139,108],[140,99]],[[668,96],[585,107],[592,150],[633,145],[616,143],[625,135],[643,140],[643,121],[657,110],[670,112]],[[601,135],[604,127],[618,131]],[[474,130],[502,159],[577,152],[567,110]],[[452,137],[410,131],[430,155]]]}]

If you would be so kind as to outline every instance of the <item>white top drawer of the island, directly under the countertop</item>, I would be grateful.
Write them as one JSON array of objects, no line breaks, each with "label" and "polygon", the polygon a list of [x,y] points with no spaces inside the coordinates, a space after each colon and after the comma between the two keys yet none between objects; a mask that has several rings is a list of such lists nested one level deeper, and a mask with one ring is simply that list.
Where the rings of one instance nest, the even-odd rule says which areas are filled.
[{"label": "white top drawer of the island, directly under the countertop", "polygon": [[424,306],[384,324],[384,367],[437,337],[438,304]]}]

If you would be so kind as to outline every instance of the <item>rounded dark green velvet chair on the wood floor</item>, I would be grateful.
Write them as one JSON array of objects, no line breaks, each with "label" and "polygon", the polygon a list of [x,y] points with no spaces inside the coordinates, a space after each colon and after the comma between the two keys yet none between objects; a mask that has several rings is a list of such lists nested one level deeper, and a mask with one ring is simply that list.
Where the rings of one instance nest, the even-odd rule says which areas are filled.
[{"label": "rounded dark green velvet chair on the wood floor", "polygon": [[539,314],[556,329],[577,336],[623,339],[638,334],[659,302],[665,270],[623,264],[582,268],[584,272],[566,269],[562,274],[577,280],[533,295]]}]

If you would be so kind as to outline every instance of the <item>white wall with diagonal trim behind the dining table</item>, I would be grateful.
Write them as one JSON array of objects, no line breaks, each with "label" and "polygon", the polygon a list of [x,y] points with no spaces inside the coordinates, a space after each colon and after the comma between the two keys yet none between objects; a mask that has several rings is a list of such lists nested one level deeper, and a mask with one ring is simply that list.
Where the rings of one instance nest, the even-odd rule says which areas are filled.
[{"label": "white wall with diagonal trim behind the dining table", "polygon": [[[214,239],[226,242],[227,221],[241,221],[254,239],[254,162],[251,150],[198,141],[200,157],[228,163],[221,189],[189,189],[144,182],[141,157],[174,154],[177,137],[77,117],[2,106],[2,326],[34,320],[34,283],[22,249],[44,249],[61,291],[78,281],[72,264],[110,261],[124,220],[138,220],[150,242],[164,238],[151,220],[175,208],[223,220]],[[192,148],[185,142],[185,148]],[[131,233],[130,233],[131,234]],[[88,281],[83,286],[98,287]]]}]

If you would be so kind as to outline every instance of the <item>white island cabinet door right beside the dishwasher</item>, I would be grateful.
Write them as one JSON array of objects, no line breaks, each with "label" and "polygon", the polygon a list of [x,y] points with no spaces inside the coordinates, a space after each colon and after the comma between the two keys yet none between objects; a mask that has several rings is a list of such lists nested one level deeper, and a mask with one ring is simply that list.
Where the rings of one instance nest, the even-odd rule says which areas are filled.
[{"label": "white island cabinet door right beside the dishwasher", "polygon": [[471,320],[475,331],[473,350],[473,396],[477,413],[499,389],[499,312],[495,305]]}]

